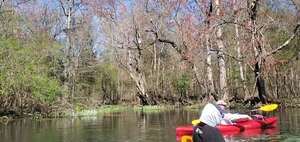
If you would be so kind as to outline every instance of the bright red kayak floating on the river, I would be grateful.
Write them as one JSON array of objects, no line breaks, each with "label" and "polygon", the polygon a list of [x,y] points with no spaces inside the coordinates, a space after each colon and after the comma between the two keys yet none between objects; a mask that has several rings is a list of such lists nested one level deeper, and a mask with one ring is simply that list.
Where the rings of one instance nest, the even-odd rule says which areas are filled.
[{"label": "bright red kayak floating on the river", "polygon": [[[226,135],[236,135],[244,131],[262,130],[276,127],[277,117],[264,118],[263,120],[240,120],[234,125],[218,125],[217,128],[221,133]],[[193,126],[179,126],[176,128],[176,139],[180,141],[182,136],[191,136],[193,134]]]}]

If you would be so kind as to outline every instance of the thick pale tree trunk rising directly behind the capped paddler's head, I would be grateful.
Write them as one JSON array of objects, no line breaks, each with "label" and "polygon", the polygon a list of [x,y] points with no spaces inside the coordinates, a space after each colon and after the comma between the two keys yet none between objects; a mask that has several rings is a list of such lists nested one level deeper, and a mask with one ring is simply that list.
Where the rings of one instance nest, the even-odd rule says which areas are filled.
[{"label": "thick pale tree trunk rising directly behind the capped paddler's head", "polygon": [[[217,17],[221,17],[221,3],[220,0],[215,0],[216,5],[216,15]],[[218,60],[219,60],[219,70],[220,70],[220,95],[224,101],[228,101],[228,90],[226,83],[226,63],[225,63],[225,55],[224,50],[225,46],[223,43],[223,31],[222,27],[218,26],[217,28],[217,46],[218,46]]]}]

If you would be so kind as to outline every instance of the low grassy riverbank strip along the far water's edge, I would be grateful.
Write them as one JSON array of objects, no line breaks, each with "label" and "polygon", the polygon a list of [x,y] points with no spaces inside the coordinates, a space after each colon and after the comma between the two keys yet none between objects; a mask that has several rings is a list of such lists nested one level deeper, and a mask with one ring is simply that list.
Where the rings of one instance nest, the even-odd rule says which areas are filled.
[{"label": "low grassy riverbank strip along the far water's edge", "polygon": [[[17,118],[30,117],[33,119],[42,119],[42,118],[63,118],[63,117],[88,117],[88,116],[97,116],[105,113],[118,113],[118,112],[143,112],[143,113],[159,113],[164,111],[183,109],[190,111],[199,111],[201,107],[205,104],[193,104],[193,105],[153,105],[153,106],[141,106],[141,105],[101,105],[96,108],[83,108],[75,106],[74,109],[65,109],[51,111],[50,113],[33,113],[24,115],[13,116],[13,115],[4,115],[0,116],[0,123],[7,124],[10,121],[13,121]],[[280,104],[281,108],[300,108],[300,103],[297,99],[294,100],[284,100]],[[248,110],[249,106],[242,105],[239,103],[232,104],[232,109],[239,110]]]}]

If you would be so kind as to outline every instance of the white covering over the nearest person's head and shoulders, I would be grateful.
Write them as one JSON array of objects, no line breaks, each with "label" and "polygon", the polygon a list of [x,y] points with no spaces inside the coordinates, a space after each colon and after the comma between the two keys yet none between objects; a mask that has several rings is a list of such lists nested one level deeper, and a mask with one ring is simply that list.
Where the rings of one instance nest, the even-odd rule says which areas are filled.
[{"label": "white covering over the nearest person's head and shoulders", "polygon": [[211,127],[215,127],[220,124],[222,120],[221,112],[216,108],[215,105],[208,103],[202,109],[200,121],[209,125]]}]

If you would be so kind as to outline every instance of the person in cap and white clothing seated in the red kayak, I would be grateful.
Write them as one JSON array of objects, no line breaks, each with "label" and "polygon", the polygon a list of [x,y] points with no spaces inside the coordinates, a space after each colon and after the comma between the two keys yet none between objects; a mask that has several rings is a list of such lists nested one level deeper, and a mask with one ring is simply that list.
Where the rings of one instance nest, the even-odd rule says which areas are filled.
[{"label": "person in cap and white clothing seated in the red kayak", "polygon": [[223,100],[217,101],[216,104],[221,108],[221,110],[223,111],[223,114],[224,114],[224,117],[220,123],[222,125],[234,124],[234,122],[237,120],[251,120],[252,119],[247,114],[230,113],[230,112],[226,111],[227,103]]}]

